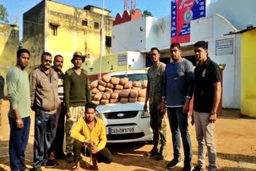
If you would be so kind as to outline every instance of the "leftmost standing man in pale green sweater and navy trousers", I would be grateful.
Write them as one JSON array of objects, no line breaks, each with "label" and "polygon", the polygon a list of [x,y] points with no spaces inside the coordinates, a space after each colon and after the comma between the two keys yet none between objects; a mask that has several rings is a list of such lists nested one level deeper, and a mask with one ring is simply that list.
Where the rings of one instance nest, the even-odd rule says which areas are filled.
[{"label": "leftmost standing man in pale green sweater and navy trousers", "polygon": [[10,125],[9,157],[11,170],[26,169],[25,152],[30,135],[30,82],[26,66],[30,63],[30,51],[17,51],[17,64],[7,74],[10,101],[8,119]]}]

